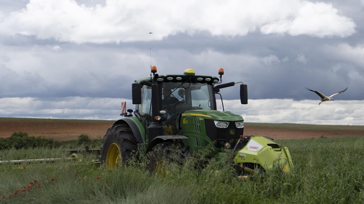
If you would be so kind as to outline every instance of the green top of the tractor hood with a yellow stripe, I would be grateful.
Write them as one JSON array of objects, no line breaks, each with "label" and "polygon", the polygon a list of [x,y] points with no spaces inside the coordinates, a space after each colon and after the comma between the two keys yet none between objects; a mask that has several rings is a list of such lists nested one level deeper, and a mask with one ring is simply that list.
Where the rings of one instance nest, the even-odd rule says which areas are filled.
[{"label": "green top of the tractor hood with a yellow stripe", "polygon": [[240,115],[230,113],[229,111],[217,110],[189,110],[183,112],[182,116],[200,116],[218,121],[244,121]]}]

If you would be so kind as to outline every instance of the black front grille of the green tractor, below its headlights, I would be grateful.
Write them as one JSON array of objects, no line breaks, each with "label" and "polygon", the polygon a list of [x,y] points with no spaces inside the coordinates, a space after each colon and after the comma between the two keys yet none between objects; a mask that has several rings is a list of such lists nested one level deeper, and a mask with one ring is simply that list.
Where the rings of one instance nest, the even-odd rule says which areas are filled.
[{"label": "black front grille of the green tractor, below its headlights", "polygon": [[[236,128],[235,121],[229,122],[229,126],[227,126],[227,128],[218,128],[215,126],[214,120],[205,119],[205,128],[206,135],[212,140],[217,148],[223,147],[226,142],[239,139],[240,135],[243,135],[244,132],[244,128]],[[232,130],[234,131],[234,134],[230,135],[230,131]]]}]

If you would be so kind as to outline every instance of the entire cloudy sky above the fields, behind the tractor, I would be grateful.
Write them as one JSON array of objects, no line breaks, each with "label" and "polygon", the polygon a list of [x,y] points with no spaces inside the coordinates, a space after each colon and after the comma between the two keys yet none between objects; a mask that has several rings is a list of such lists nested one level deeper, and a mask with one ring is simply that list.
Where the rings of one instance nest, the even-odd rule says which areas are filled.
[{"label": "entire cloudy sky above the fields, behind the tractor", "polygon": [[[1,0],[0,117],[118,119],[151,62],[224,68],[248,84],[248,105],[221,92],[246,122],[364,125],[363,13],[364,0]],[[304,87],[349,88],[318,106]]]}]

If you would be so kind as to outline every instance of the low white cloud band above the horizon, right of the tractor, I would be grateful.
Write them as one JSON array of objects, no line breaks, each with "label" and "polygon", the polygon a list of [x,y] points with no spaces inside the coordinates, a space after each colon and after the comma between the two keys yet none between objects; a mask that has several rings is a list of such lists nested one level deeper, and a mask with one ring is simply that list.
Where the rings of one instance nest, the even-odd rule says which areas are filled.
[{"label": "low white cloud band above the horizon, right of the tractor", "polygon": [[[224,100],[225,111],[240,114],[245,122],[304,123],[320,125],[363,125],[364,101],[323,102],[317,100],[258,99],[241,105],[239,100]],[[332,102],[332,103],[331,103]],[[219,101],[217,101],[219,103]],[[218,108],[221,108],[219,103]]]}]

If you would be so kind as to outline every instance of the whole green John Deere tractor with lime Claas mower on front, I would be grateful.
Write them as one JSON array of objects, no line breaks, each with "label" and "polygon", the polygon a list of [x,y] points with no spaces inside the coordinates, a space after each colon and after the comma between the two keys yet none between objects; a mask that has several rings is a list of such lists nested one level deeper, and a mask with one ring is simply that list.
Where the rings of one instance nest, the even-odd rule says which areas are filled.
[{"label": "whole green John Deere tractor with lime Claas mower on front", "polygon": [[[236,176],[247,178],[259,168],[266,171],[274,163],[284,172],[293,167],[288,148],[264,136],[244,136],[244,119],[229,111],[218,111],[216,95],[221,89],[240,84],[241,104],[248,104],[247,86],[242,82],[221,83],[213,76],[184,74],[158,75],[132,84],[133,111],[114,123],[106,132],[100,149],[100,161],[106,168],[117,168],[132,155],[149,156],[151,173],[165,159],[183,163],[190,154],[212,147],[207,157],[233,151]],[[222,102],[222,98],[221,98]],[[223,103],[222,103],[223,107]],[[122,114],[121,114],[122,115]]]}]

